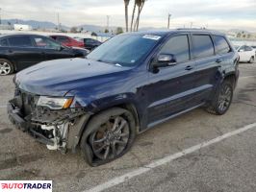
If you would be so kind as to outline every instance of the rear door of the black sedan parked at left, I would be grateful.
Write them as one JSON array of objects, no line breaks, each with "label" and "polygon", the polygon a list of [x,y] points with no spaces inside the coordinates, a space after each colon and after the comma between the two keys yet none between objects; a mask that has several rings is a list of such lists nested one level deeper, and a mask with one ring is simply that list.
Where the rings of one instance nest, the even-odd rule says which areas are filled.
[{"label": "rear door of the black sedan parked at left", "polygon": [[8,41],[10,58],[15,60],[17,70],[43,60],[42,53],[34,46],[31,36],[10,36]]}]

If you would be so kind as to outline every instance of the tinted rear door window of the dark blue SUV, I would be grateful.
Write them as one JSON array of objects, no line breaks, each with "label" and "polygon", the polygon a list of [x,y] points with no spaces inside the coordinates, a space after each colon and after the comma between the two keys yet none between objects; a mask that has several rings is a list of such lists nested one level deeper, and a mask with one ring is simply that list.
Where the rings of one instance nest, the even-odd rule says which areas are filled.
[{"label": "tinted rear door window of the dark blue SUV", "polygon": [[193,35],[192,44],[195,58],[205,58],[215,54],[214,45],[210,36]]}]

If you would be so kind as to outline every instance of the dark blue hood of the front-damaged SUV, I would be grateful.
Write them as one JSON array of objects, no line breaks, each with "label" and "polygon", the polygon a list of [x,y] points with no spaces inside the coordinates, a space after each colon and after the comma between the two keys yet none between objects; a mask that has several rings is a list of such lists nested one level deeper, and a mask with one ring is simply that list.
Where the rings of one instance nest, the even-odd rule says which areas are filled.
[{"label": "dark blue hood of the front-damaged SUV", "polygon": [[[22,90],[48,96],[64,96],[69,90],[102,79],[117,78],[129,67],[87,60],[65,59],[40,62],[16,74],[15,84]],[[104,82],[104,81],[103,81]]]}]

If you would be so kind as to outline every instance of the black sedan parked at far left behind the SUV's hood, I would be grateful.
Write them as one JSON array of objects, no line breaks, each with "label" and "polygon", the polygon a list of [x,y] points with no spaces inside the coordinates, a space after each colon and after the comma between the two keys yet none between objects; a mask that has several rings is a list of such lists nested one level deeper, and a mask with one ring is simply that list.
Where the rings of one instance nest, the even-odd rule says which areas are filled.
[{"label": "black sedan parked at far left behind the SUV's hood", "polygon": [[62,46],[38,35],[0,36],[0,75],[10,75],[44,60],[85,57],[88,50]]}]

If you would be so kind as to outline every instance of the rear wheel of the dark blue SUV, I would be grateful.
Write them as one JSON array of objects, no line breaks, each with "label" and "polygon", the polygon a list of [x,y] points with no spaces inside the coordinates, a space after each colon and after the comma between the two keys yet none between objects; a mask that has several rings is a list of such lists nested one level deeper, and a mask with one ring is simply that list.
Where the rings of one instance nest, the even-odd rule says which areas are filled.
[{"label": "rear wheel of the dark blue SUV", "polygon": [[210,113],[222,115],[230,107],[233,99],[233,84],[230,81],[224,81],[220,84],[217,94],[210,106],[206,110]]}]

